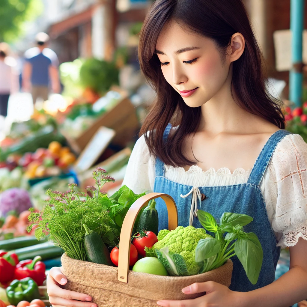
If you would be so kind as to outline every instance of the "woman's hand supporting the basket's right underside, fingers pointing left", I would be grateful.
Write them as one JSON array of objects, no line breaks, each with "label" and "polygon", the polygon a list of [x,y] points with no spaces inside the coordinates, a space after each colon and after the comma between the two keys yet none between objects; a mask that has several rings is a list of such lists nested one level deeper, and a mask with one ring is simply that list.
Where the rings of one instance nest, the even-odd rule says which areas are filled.
[{"label": "woman's hand supporting the basket's right underside, fingers pointing left", "polygon": [[229,290],[217,282],[196,282],[181,290],[185,294],[206,292],[206,295],[184,301],[157,301],[163,307],[239,307],[243,304],[241,292]]}]

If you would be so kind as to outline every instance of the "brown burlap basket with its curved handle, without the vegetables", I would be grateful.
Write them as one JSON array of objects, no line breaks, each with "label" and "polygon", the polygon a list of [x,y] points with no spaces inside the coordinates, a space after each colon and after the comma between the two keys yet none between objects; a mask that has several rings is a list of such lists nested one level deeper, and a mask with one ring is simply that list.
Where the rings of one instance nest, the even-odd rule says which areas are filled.
[{"label": "brown burlap basket with its curved handle, without the vegetables", "polygon": [[186,295],[181,289],[194,282],[215,281],[230,286],[232,262],[227,262],[207,273],[186,276],[159,276],[129,270],[130,238],[134,221],[148,201],[161,197],[167,206],[169,230],[178,226],[177,207],[167,194],[149,193],[140,197],[130,207],[122,224],[119,242],[119,267],[75,260],[64,254],[62,272],[67,277],[66,289],[85,293],[98,307],[154,307],[160,299],[184,300],[204,293]]}]

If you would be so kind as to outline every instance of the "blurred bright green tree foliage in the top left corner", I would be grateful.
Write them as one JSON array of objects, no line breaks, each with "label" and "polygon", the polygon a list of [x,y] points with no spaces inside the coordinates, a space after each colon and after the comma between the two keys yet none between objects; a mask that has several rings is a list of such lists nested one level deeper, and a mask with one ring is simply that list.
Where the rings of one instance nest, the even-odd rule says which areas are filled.
[{"label": "blurred bright green tree foliage in the top left corner", "polygon": [[25,21],[42,13],[41,0],[0,0],[0,41],[14,41],[22,34]]}]

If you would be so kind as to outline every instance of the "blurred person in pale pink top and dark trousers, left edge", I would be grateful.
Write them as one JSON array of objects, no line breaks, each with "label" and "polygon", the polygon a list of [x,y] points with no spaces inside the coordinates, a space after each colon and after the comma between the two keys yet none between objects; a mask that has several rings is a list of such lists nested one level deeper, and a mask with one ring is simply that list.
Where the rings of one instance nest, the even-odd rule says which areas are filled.
[{"label": "blurred person in pale pink top and dark trousers, left edge", "polygon": [[9,45],[0,43],[0,115],[6,117],[10,94],[17,90],[16,60],[8,56]]}]

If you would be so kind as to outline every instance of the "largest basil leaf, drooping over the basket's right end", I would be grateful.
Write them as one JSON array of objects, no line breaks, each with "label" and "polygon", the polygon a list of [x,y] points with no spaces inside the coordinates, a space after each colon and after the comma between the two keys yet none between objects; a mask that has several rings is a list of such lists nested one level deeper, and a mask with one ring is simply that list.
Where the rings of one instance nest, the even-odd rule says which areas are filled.
[{"label": "largest basil leaf, drooping over the basket's right end", "polygon": [[235,254],[239,258],[246,272],[247,278],[255,285],[260,274],[263,251],[257,236],[250,232],[249,239],[238,239],[235,242]]}]

